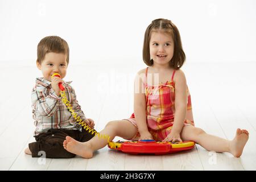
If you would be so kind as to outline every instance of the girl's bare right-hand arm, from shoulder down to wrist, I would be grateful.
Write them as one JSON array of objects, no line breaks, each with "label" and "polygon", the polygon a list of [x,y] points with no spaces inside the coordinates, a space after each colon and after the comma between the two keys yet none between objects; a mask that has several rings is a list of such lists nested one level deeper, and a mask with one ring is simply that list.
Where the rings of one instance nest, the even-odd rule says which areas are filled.
[{"label": "girl's bare right-hand arm, from shoulder down to wrist", "polygon": [[175,74],[175,117],[172,133],[180,134],[187,111],[187,81],[181,69]]}]

